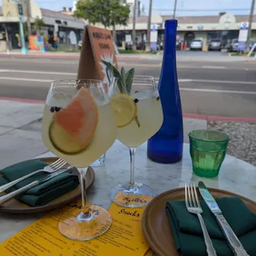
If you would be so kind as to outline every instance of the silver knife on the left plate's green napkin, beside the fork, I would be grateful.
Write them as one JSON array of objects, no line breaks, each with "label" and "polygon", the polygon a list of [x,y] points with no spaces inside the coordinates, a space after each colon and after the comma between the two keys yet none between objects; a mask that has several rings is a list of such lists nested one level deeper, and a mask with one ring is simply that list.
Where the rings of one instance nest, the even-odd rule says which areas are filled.
[{"label": "silver knife on the left plate's green napkin, beside the fork", "polygon": [[25,187],[21,187],[13,192],[10,192],[2,197],[0,197],[0,206],[2,206],[4,203],[6,203],[7,201],[10,201],[13,197],[16,197],[17,195],[26,192],[27,190],[31,189],[32,187],[36,187],[41,183],[45,183],[48,180],[50,180],[51,178],[55,178],[56,176],[58,176],[61,173],[66,173],[69,172],[70,174],[75,174],[75,169],[73,168],[73,166],[69,167],[69,168],[65,168],[65,169],[60,169],[59,171],[56,171],[55,173],[50,173],[49,175],[47,175],[45,178],[41,178],[39,180],[36,180],[33,183],[29,183],[28,185],[26,185]]}]

